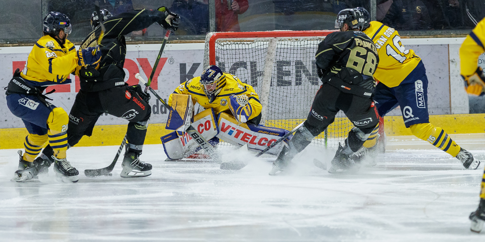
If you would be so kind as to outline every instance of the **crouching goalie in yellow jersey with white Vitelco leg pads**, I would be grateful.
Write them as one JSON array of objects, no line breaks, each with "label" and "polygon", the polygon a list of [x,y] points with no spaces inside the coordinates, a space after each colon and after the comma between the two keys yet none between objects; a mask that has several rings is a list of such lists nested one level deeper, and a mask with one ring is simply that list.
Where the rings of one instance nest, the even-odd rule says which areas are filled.
[{"label": "crouching goalie in yellow jersey with white Vitelco leg pads", "polygon": [[[172,110],[166,129],[174,132],[161,139],[168,160],[190,157],[200,149],[185,132],[188,125],[192,125],[211,145],[217,144],[220,138],[235,146],[247,144],[253,151],[264,150],[288,133],[284,129],[259,125],[262,106],[256,91],[215,65],[208,66],[202,76],[180,84],[170,94],[167,103]],[[206,110],[192,116],[196,103]],[[268,153],[278,154],[283,143]]]}]

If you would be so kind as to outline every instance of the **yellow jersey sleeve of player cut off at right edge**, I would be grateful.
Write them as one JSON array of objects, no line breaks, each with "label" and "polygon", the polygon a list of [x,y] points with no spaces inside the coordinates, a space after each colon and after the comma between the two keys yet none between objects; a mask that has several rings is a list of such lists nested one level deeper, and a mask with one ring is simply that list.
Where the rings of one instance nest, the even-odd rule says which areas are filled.
[{"label": "yellow jersey sleeve of player cut off at right edge", "polygon": [[485,18],[478,22],[477,26],[460,47],[460,74],[471,76],[478,66],[478,57],[485,52]]}]

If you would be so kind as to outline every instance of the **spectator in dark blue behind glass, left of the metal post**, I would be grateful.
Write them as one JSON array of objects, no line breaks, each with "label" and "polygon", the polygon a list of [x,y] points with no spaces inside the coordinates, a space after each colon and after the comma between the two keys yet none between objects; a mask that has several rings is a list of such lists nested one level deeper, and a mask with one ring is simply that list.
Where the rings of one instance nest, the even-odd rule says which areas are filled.
[{"label": "spectator in dark blue behind glass, left of the metal post", "polygon": [[199,35],[209,31],[209,5],[207,3],[197,0],[174,0],[170,11],[180,16],[180,25],[176,34]]}]

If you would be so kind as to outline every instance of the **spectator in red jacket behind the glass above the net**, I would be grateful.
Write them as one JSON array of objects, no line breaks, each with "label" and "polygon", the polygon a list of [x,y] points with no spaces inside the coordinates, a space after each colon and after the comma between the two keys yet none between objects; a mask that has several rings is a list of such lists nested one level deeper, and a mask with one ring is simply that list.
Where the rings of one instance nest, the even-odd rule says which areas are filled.
[{"label": "spectator in red jacket behind the glass above the net", "polygon": [[215,0],[215,24],[219,32],[239,32],[238,15],[246,12],[247,0]]}]

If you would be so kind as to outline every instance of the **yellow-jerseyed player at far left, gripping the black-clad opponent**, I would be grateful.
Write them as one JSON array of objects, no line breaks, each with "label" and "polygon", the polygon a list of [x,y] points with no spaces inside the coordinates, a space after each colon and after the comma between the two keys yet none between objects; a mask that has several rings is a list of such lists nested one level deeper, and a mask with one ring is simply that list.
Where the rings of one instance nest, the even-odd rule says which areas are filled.
[{"label": "yellow-jerseyed player at far left, gripping the black-clad opponent", "polygon": [[74,44],[66,39],[71,33],[71,25],[64,14],[47,14],[43,21],[43,32],[44,36],[32,47],[23,71],[15,71],[6,92],[8,108],[22,119],[29,131],[24,141],[24,154],[18,152],[20,161],[13,180],[29,180],[39,172],[47,171],[50,164],[45,164],[40,156],[35,158],[44,144],[49,142],[54,148],[52,158],[58,177],[76,182],[79,172],[66,160],[65,152],[69,118],[62,107],[47,102],[49,98],[42,92],[50,85],[70,83],[68,77],[76,67],[96,65],[100,53],[96,53],[95,47],[76,51]]}]

